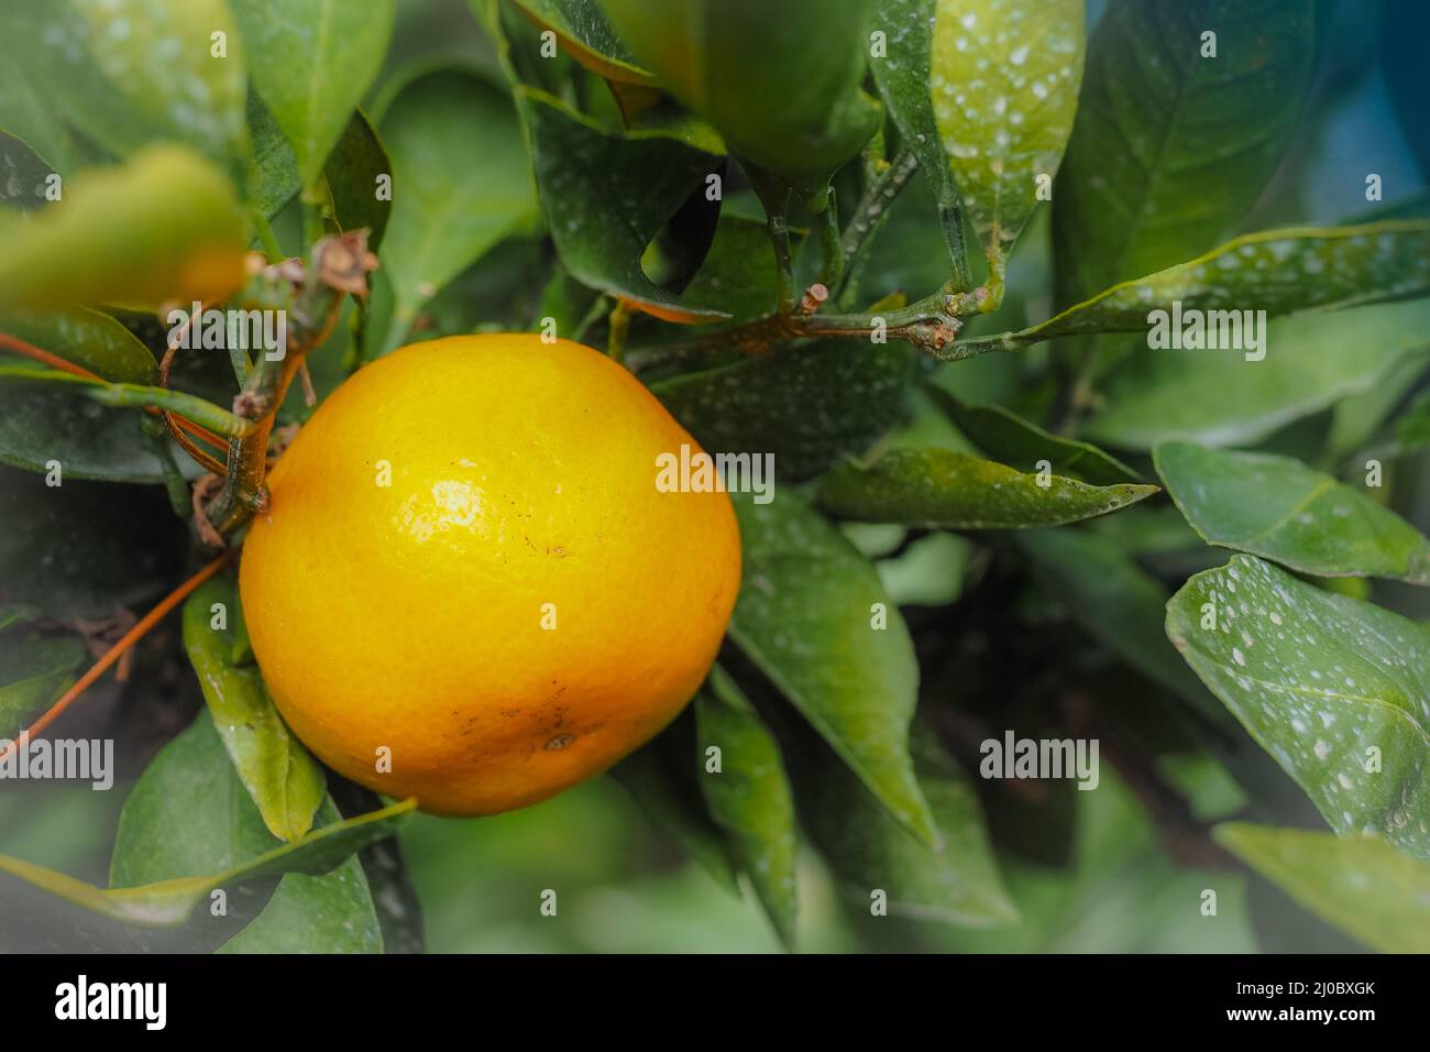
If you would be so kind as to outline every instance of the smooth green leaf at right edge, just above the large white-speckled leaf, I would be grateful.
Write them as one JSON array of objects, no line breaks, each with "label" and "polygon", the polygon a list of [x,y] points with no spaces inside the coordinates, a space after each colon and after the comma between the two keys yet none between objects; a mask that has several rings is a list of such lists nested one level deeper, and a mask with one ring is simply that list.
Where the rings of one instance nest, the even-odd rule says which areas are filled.
[{"label": "smooth green leaf at right edge, just above the large white-speckled leaf", "polygon": [[1290,457],[1164,442],[1157,474],[1208,544],[1317,577],[1430,584],[1430,540],[1400,515]]}]

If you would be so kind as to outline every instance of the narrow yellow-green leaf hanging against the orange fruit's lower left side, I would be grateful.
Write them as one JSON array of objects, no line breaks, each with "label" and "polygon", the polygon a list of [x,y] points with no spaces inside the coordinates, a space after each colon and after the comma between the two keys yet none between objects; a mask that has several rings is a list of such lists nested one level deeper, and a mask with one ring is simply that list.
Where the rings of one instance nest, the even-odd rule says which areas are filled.
[{"label": "narrow yellow-green leaf hanging against the orange fruit's lower left side", "polygon": [[[326,794],[323,770],[277,714],[259,667],[235,663],[242,617],[233,583],[206,581],[184,603],[183,643],[223,749],[269,833],[296,840]],[[223,628],[213,627],[216,618]]]}]

